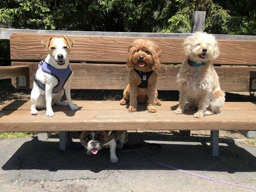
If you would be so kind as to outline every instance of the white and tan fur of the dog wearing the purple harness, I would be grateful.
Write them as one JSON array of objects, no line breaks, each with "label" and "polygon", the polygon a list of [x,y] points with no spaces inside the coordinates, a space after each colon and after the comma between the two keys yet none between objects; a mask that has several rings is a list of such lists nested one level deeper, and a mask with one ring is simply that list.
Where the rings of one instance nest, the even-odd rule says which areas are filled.
[{"label": "white and tan fur of the dog wearing the purple harness", "polygon": [[[66,37],[67,38],[67,37]],[[69,38],[67,38],[69,39]],[[70,39],[69,39],[70,40]],[[68,43],[65,38],[50,38],[49,41],[45,41],[46,48],[50,50],[50,47],[54,47],[54,53],[53,51],[50,50],[48,56],[46,57],[45,61],[49,63],[51,66],[58,68],[58,69],[65,69],[69,65],[69,48],[72,48],[73,43],[70,44]],[[43,43],[43,41],[42,41]],[[44,43],[43,43],[44,44]],[[65,47],[69,48],[65,48]],[[62,54],[63,55],[63,60],[65,60],[64,65],[58,65],[57,61],[57,55]],[[56,61],[57,60],[57,61]],[[64,94],[64,90],[62,90],[59,93],[52,93],[52,89],[54,86],[58,84],[58,80],[53,76],[48,73],[45,73],[42,71],[41,67],[38,68],[37,73],[36,73],[37,79],[45,84],[45,89],[43,90],[38,87],[38,85],[34,82],[33,84],[33,89],[31,91],[31,114],[32,115],[37,115],[38,111],[37,108],[46,108],[46,116],[48,117],[53,117],[54,112],[51,108],[52,105],[62,105],[62,106],[70,106],[72,110],[77,110],[78,107],[73,104],[71,100],[71,94],[70,94],[70,89],[71,89],[71,80],[73,77],[73,73],[70,75],[68,78],[67,82],[64,84],[64,90],[65,90],[65,95],[67,97],[67,102],[60,101],[61,97]]]}]

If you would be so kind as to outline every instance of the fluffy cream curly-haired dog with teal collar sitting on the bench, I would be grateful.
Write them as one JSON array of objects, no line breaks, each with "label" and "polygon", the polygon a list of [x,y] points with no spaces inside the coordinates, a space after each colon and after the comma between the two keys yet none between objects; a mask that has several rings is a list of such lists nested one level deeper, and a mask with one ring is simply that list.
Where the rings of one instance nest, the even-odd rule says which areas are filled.
[{"label": "fluffy cream curly-haired dog with teal collar sitting on the bench", "polygon": [[180,98],[175,114],[194,110],[196,118],[219,113],[225,102],[225,93],[220,89],[219,76],[211,59],[219,56],[215,37],[197,32],[184,40],[185,60],[177,74]]}]

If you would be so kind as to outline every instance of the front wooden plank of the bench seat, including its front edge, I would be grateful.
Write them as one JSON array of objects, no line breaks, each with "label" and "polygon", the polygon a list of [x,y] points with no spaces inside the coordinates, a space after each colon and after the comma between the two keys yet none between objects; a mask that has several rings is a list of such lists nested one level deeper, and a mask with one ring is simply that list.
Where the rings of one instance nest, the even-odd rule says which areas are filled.
[{"label": "front wooden plank of the bench seat, including its front edge", "polygon": [[46,116],[45,110],[39,111],[37,116],[32,116],[30,110],[1,112],[5,115],[0,118],[0,132],[256,129],[256,111],[221,111],[220,114],[201,119],[194,118],[194,112],[175,115],[171,109],[157,113],[146,110],[69,110],[57,111],[52,118]]}]

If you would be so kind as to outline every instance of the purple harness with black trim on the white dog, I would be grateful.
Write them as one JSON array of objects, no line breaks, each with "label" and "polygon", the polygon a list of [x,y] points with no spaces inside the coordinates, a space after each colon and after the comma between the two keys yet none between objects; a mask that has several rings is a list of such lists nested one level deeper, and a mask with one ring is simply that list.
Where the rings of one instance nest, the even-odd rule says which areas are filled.
[{"label": "purple harness with black trim on the white dog", "polygon": [[[43,72],[54,76],[58,80],[58,84],[53,87],[52,93],[59,93],[63,89],[64,84],[72,73],[70,65],[66,69],[56,69],[44,60],[39,62],[38,68],[40,67],[42,67]],[[34,81],[41,89],[45,90],[45,84],[37,79],[36,74],[34,75]]]}]

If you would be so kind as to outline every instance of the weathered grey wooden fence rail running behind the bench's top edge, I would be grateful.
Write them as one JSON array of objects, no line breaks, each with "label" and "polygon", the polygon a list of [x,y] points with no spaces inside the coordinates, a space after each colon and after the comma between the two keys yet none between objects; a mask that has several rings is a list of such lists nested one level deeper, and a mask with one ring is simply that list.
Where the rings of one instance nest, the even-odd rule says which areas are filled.
[{"label": "weathered grey wooden fence rail running behind the bench's top edge", "polygon": [[[0,39],[10,39],[13,33],[52,34],[52,35],[86,35],[86,36],[136,36],[136,37],[172,37],[185,38],[191,33],[137,33],[137,32],[101,32],[101,31],[61,31],[36,29],[0,29]],[[256,36],[215,34],[217,39],[256,40]]]}]

